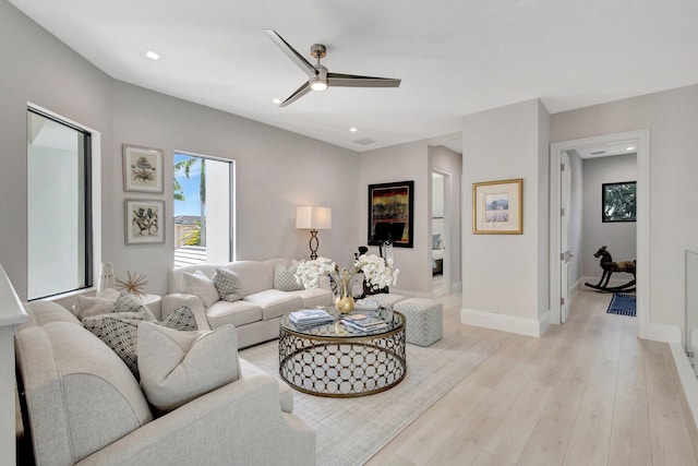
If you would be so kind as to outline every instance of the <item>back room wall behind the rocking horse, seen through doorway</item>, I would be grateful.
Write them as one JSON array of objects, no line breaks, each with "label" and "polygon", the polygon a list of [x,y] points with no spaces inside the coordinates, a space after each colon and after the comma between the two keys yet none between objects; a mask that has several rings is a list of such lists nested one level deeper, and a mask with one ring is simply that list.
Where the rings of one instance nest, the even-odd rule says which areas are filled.
[{"label": "back room wall behind the rocking horse, seen through doorway", "polygon": [[[581,247],[581,274],[601,278],[599,259],[593,253],[602,246],[616,262],[631,261],[637,258],[637,223],[601,222],[601,186],[610,182],[637,180],[637,155],[616,155],[613,157],[587,158],[583,166],[583,223]],[[628,274],[615,274],[614,279],[630,280]],[[597,280],[598,282],[598,280]],[[592,283],[597,283],[592,282]]]}]

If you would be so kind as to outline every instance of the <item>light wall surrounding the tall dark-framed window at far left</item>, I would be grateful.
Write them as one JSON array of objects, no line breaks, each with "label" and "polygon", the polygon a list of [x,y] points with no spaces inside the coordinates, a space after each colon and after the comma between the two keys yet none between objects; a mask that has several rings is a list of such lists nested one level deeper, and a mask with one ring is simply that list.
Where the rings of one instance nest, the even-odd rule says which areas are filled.
[{"label": "light wall surrounding the tall dark-framed window at far left", "polygon": [[[110,158],[115,152],[112,80],[4,0],[0,0],[0,263],[20,298],[26,299],[27,103],[101,132],[101,152]],[[101,168],[103,188],[110,192],[115,182],[120,188],[111,164]],[[103,231],[105,244],[110,244],[115,234],[107,196],[103,198],[103,208],[109,211]],[[122,235],[119,238],[123,241]]]}]

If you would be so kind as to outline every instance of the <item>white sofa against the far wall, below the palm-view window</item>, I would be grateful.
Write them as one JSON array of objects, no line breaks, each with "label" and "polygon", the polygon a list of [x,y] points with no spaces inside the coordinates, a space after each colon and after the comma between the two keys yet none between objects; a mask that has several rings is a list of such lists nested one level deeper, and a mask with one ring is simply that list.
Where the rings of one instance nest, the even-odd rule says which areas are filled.
[{"label": "white sofa against the far wall, below the palm-view window", "polygon": [[[329,306],[333,302],[328,280],[320,288],[278,289],[288,289],[279,286],[279,283],[288,284],[293,263],[291,259],[269,259],[173,268],[169,272],[169,294],[163,297],[163,318],[180,306],[186,304],[194,312],[198,328],[234,325],[238,330],[240,348],[277,338],[279,319],[285,313],[316,306]],[[201,271],[208,278],[213,278],[218,267],[225,267],[238,275],[242,284],[240,291],[242,299],[233,302],[216,300],[205,306],[202,297],[192,292],[184,274]]]}]

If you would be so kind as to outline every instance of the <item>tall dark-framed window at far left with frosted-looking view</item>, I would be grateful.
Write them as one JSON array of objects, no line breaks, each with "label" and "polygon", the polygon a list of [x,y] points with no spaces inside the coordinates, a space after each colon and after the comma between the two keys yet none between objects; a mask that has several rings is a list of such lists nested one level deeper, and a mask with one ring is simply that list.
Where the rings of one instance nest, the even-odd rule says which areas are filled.
[{"label": "tall dark-framed window at far left with frosted-looking view", "polygon": [[89,131],[27,109],[27,299],[93,285],[92,148]]}]

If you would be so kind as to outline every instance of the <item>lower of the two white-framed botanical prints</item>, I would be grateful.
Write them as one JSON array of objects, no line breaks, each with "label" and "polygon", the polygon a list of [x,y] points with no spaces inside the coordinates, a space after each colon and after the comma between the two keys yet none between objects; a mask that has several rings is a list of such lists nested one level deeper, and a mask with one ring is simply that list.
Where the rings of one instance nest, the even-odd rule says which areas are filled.
[{"label": "lower of the two white-framed botanical prints", "polygon": [[165,242],[165,201],[125,199],[123,208],[127,244]]}]

